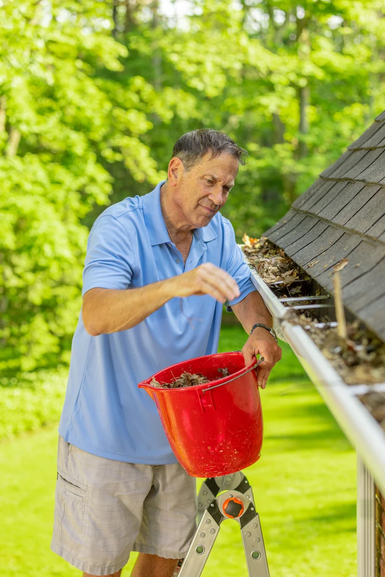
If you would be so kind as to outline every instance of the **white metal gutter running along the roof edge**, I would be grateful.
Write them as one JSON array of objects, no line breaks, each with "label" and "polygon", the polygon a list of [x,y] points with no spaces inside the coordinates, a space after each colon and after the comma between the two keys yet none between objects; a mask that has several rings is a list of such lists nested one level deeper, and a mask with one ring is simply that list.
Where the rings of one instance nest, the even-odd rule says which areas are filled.
[{"label": "white metal gutter running along the roof edge", "polygon": [[[247,259],[245,259],[246,262]],[[252,270],[259,290],[275,324],[281,328],[301,365],[329,407],[332,415],[354,445],[385,494],[385,433],[367,408],[358,400],[358,387],[347,385],[300,325],[285,320],[288,312],[267,284]]]}]

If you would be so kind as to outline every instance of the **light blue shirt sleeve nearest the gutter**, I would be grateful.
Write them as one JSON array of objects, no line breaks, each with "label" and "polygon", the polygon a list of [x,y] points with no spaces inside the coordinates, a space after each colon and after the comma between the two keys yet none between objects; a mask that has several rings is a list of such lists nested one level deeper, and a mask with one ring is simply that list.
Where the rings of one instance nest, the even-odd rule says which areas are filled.
[{"label": "light blue shirt sleeve nearest the gutter", "polygon": [[251,271],[244,261],[243,253],[236,242],[236,235],[234,228],[229,220],[223,219],[223,227],[225,229],[225,250],[224,254],[226,262],[223,263],[226,272],[229,273],[236,280],[240,288],[240,295],[232,301],[226,301],[226,310],[231,312],[231,306],[237,305],[238,302],[249,294],[256,291],[257,288],[251,280]]}]

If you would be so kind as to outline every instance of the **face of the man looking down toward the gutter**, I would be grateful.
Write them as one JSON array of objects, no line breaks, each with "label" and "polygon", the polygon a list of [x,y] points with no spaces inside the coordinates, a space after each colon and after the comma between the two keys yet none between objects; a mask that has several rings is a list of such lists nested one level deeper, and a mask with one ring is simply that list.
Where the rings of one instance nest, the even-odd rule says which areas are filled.
[{"label": "face of the man looking down toward the gutter", "polygon": [[[174,203],[186,224],[201,228],[225,205],[238,172],[234,156],[208,152],[188,172],[182,170],[174,191]],[[180,173],[181,174],[181,173]]]}]

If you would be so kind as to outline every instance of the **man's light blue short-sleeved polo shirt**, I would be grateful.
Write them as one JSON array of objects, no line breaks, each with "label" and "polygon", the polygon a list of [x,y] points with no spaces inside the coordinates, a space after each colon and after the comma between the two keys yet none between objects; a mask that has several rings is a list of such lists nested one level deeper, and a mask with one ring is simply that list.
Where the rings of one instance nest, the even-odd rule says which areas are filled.
[{"label": "man's light blue short-sleeved polo shirt", "polygon": [[[83,295],[95,287],[143,287],[210,262],[236,279],[241,294],[229,304],[237,304],[255,287],[229,220],[217,213],[208,226],[196,228],[184,265],[163,220],[162,184],[145,196],[125,198],[96,219]],[[167,366],[216,353],[221,316],[222,304],[208,295],[173,298],[136,327],[91,336],[80,314],[59,434],[107,459],[176,463],[155,403],[137,383]]]}]

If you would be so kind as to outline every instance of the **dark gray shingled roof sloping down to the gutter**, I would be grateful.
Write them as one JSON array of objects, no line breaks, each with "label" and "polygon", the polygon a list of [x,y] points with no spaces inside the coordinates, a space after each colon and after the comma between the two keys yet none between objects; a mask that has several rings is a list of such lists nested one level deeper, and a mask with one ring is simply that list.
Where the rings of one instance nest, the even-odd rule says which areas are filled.
[{"label": "dark gray shingled roof sloping down to the gutter", "polygon": [[385,111],[264,236],[385,340]]}]

